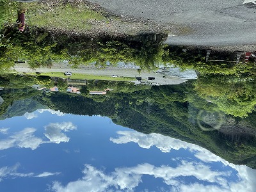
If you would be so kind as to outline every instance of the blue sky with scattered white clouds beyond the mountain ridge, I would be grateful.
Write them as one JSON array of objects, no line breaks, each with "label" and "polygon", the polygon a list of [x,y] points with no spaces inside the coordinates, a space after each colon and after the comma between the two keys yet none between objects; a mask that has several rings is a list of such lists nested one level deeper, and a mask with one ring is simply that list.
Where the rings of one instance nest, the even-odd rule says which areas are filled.
[{"label": "blue sky with scattered white clouds beyond the mountain ridge", "polygon": [[253,191],[256,172],[102,116],[38,109],[0,121],[1,191]]}]

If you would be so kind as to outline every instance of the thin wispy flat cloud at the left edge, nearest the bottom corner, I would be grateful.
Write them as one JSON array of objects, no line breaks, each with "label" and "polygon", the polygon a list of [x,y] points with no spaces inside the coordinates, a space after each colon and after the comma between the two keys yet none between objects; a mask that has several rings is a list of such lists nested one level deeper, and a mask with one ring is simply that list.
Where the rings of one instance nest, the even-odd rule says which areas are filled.
[{"label": "thin wispy flat cloud at the left edge, nearest the bottom corner", "polygon": [[16,177],[49,177],[52,175],[59,175],[60,172],[51,173],[51,172],[44,172],[40,174],[35,174],[33,172],[30,173],[20,173],[19,172],[20,164],[16,163],[13,166],[3,166],[0,168],[0,182],[4,179],[14,179]]}]

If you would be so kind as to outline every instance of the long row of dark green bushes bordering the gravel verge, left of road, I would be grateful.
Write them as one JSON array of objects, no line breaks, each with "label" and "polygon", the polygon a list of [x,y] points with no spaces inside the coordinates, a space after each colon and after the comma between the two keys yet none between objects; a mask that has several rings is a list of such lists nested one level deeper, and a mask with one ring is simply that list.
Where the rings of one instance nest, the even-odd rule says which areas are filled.
[{"label": "long row of dark green bushes bordering the gravel verge, left of road", "polygon": [[[145,35],[147,36],[147,35]],[[18,33],[16,29],[6,28],[4,37],[10,46],[0,47],[2,65],[13,67],[13,62],[28,61],[31,68],[51,67],[53,61],[68,60],[71,67],[95,65],[107,67],[119,61],[134,63],[141,69],[156,68],[166,54],[161,41],[127,42],[126,40],[101,39],[92,42],[86,36],[50,34],[44,29],[27,29]]]}]

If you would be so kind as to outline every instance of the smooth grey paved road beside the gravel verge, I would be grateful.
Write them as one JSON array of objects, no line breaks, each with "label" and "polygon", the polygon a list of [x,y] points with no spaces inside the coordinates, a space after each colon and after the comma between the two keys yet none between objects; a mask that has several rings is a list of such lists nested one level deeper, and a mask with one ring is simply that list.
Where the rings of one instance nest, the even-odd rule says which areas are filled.
[{"label": "smooth grey paved road beside the gravel verge", "polygon": [[89,0],[118,15],[179,24],[188,33],[170,36],[175,45],[256,44],[256,6],[242,0]]}]

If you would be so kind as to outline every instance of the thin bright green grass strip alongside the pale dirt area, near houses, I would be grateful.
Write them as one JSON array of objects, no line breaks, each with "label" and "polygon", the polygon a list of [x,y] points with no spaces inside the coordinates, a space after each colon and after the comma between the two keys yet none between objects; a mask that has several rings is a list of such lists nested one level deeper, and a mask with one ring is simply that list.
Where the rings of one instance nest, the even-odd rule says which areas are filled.
[{"label": "thin bright green grass strip alongside the pale dirt area, near houses", "polygon": [[[35,73],[26,73],[30,75],[35,75]],[[50,77],[63,77],[68,78],[68,76],[65,76],[63,72],[42,72],[40,73],[40,76],[50,76]],[[88,75],[88,74],[77,74],[72,73],[72,76],[70,79],[88,79],[88,80],[108,80],[108,81],[133,81],[136,80],[134,77],[111,77],[111,76],[94,76],[94,75]]]}]

